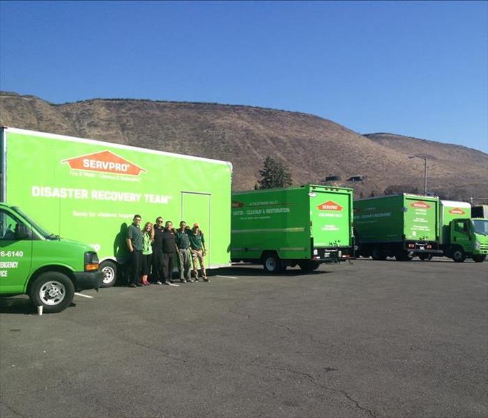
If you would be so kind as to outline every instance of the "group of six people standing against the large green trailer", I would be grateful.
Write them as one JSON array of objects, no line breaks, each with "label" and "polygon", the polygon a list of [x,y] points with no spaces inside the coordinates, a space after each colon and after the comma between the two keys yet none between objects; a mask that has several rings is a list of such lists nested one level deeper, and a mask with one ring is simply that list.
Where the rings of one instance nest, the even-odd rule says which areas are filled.
[{"label": "group of six people standing against the large green trailer", "polygon": [[[158,217],[155,224],[146,222],[141,229],[142,217],[135,215],[127,231],[127,246],[130,251],[129,287],[153,284],[172,284],[173,269],[178,265],[180,281],[195,283],[200,278],[210,281],[206,275],[204,234],[199,224],[190,229],[185,221],[179,229],[173,223]],[[192,277],[193,276],[193,277]]]}]

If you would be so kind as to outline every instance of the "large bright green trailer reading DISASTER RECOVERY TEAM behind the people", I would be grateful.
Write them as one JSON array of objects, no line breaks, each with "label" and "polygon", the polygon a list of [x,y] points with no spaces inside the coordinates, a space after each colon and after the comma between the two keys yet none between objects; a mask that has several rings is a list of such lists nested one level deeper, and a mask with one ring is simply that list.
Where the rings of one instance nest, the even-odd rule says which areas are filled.
[{"label": "large bright green trailer reading DISASTER RECOVERY TEAM behind the people", "polygon": [[[209,160],[10,127],[1,129],[0,201],[31,212],[56,235],[95,249],[115,283],[128,259],[125,235],[142,222],[198,222],[208,268],[230,265],[231,171]],[[120,271],[120,270],[119,270]]]}]

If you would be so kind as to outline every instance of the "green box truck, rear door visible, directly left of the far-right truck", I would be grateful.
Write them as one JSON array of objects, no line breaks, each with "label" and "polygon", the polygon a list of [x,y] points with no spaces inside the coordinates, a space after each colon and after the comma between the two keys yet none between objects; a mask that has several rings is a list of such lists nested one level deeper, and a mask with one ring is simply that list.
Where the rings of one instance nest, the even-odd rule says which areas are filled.
[{"label": "green box truck, rear door visible, directly left of the far-right truck", "polygon": [[395,256],[409,261],[442,254],[439,198],[397,194],[354,202],[354,233],[359,254],[374,260]]}]

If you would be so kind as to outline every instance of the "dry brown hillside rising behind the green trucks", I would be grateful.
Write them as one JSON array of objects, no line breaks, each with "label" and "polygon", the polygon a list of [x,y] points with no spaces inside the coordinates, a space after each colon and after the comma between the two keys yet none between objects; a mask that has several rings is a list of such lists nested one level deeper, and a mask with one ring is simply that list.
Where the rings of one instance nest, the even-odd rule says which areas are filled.
[{"label": "dry brown hillside rising behind the green trucks", "polygon": [[234,189],[251,189],[270,155],[289,165],[293,183],[325,176],[367,176],[358,196],[385,189],[423,189],[450,199],[488,196],[488,155],[462,146],[400,137],[360,135],[333,121],[298,112],[225,104],[94,99],[52,104],[31,95],[0,95],[1,125],[68,134],[174,153],[228,160]]}]

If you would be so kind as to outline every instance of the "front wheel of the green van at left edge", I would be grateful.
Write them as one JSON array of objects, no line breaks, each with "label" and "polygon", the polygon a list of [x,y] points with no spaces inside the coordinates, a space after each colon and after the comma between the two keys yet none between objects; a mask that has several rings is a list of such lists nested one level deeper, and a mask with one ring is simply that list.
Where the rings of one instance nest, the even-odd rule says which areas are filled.
[{"label": "front wheel of the green van at left edge", "polygon": [[29,297],[36,306],[42,306],[47,314],[61,312],[73,302],[75,286],[66,274],[45,272],[33,281]]}]

